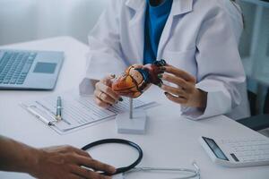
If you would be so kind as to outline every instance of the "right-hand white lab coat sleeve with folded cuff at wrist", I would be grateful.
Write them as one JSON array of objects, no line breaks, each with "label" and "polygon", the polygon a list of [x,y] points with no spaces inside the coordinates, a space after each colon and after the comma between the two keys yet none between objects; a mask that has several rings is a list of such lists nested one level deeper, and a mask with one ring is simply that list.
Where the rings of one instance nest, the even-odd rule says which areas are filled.
[{"label": "right-hand white lab coat sleeve with folded cuff at wrist", "polygon": [[240,91],[246,90],[246,76],[228,14],[220,9],[211,16],[201,26],[195,54],[196,88],[207,92],[207,105],[204,109],[181,107],[182,115],[194,120],[230,113],[242,101]]}]

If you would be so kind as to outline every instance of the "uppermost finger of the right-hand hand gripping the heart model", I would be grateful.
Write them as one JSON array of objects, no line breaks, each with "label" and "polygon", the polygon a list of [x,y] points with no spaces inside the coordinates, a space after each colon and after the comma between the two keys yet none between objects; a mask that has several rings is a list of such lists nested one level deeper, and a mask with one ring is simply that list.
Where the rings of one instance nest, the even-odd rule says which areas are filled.
[{"label": "uppermost finger of the right-hand hand gripping the heart model", "polygon": [[188,72],[185,72],[183,70],[180,70],[174,66],[168,65],[168,66],[163,66],[161,67],[161,70],[163,70],[164,72],[169,72],[172,73],[180,78],[183,78],[186,81],[190,81],[195,83],[196,79],[194,76],[192,76],[191,74],[189,74]]}]

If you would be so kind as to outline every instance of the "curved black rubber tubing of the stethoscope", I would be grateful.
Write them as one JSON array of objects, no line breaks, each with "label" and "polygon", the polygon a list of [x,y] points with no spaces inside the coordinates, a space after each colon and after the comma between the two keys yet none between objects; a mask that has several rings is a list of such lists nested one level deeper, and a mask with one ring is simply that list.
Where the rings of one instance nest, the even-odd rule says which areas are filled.
[{"label": "curved black rubber tubing of the stethoscope", "polygon": [[[84,147],[82,147],[82,149],[87,150],[87,149],[91,149],[91,148],[93,148],[95,146],[102,145],[102,144],[107,144],[107,143],[126,144],[126,145],[131,146],[134,149],[136,149],[138,151],[138,155],[139,155],[138,158],[134,161],[133,164],[131,164],[130,166],[124,166],[124,167],[117,168],[116,173],[114,173],[112,175],[125,173],[125,172],[133,169],[135,166],[137,166],[141,162],[141,160],[143,158],[143,150],[140,148],[139,145],[137,145],[133,141],[127,141],[127,140],[122,140],[122,139],[104,139],[104,140],[100,140],[100,141],[93,141],[93,142],[89,143],[88,145],[85,145]],[[101,175],[111,175],[111,174],[108,174],[106,172],[102,172],[100,174]]]}]

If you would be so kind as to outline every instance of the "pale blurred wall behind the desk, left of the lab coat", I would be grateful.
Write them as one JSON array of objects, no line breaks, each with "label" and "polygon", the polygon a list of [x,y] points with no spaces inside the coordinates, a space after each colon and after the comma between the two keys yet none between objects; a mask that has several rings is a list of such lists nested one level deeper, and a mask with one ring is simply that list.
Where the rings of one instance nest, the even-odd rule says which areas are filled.
[{"label": "pale blurred wall behind the desk, left of the lab coat", "polygon": [[87,34],[109,0],[0,0],[0,45]]}]

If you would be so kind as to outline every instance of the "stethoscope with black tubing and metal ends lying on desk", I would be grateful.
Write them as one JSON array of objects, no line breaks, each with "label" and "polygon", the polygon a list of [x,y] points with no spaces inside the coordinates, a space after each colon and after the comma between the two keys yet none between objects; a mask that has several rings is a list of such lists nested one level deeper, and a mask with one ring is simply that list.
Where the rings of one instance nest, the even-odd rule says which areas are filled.
[{"label": "stethoscope with black tubing and metal ends lying on desk", "polygon": [[[130,174],[133,172],[184,172],[184,173],[189,173],[187,176],[181,176],[177,177],[174,179],[187,179],[187,178],[195,178],[197,177],[200,179],[200,168],[196,165],[195,162],[193,162],[193,166],[195,166],[195,169],[188,169],[188,168],[170,168],[170,167],[136,167],[142,160],[143,158],[143,150],[140,148],[139,145],[134,143],[133,141],[126,141],[122,139],[105,139],[105,140],[100,140],[100,141],[94,141],[89,143],[88,145],[82,147],[83,150],[91,149],[95,146],[102,145],[102,144],[108,144],[108,143],[117,143],[117,144],[124,144],[128,145],[132,148],[134,148],[138,152],[138,158],[134,161],[129,166],[124,166],[124,167],[119,167],[116,170],[116,173],[113,175],[117,174]],[[105,172],[100,173],[101,175],[109,175]]]}]

